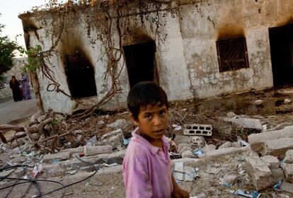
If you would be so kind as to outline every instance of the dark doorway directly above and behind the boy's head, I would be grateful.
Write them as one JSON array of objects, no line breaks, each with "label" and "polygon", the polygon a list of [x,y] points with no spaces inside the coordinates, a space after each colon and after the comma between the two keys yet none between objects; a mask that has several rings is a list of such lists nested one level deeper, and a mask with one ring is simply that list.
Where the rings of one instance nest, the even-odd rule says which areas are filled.
[{"label": "dark doorway directly above and behind the boy's head", "polygon": [[130,87],[141,81],[158,81],[154,41],[123,46]]}]

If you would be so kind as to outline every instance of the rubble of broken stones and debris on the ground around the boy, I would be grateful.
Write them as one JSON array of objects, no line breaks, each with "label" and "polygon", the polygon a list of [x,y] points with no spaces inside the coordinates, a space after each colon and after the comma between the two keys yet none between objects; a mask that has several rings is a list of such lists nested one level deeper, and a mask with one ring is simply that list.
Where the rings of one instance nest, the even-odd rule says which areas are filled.
[{"label": "rubble of broken stones and debris on the ground around the boy", "polygon": [[[292,196],[293,126],[270,119],[171,108],[167,136],[178,184],[197,197]],[[59,180],[87,173],[115,173],[123,182],[134,127],[127,112],[70,122],[50,112],[33,115],[26,127],[1,125],[0,188],[11,184],[7,177]],[[124,197],[119,187],[117,197]]]}]

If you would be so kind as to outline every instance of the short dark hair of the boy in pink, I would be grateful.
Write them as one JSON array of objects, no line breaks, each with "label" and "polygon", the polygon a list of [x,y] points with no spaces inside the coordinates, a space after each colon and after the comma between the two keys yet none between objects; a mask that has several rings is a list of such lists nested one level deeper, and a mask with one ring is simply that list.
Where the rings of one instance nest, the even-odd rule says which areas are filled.
[{"label": "short dark hair of the boy in pink", "polygon": [[147,105],[156,105],[156,103],[166,105],[167,109],[169,107],[165,91],[154,82],[137,83],[130,89],[130,93],[127,96],[127,106],[134,120],[137,120],[141,108]]}]

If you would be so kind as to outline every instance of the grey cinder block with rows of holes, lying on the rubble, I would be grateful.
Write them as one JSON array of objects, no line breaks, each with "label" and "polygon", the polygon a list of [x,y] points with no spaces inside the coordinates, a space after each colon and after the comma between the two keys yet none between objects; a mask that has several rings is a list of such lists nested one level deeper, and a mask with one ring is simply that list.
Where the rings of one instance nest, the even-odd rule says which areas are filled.
[{"label": "grey cinder block with rows of holes, lying on the rubble", "polygon": [[183,134],[189,136],[212,136],[210,124],[184,124]]}]

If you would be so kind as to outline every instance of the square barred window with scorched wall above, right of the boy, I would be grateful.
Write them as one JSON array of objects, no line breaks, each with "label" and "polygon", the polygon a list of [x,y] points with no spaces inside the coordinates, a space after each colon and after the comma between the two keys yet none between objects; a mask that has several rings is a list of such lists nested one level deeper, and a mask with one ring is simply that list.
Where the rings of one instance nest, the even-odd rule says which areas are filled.
[{"label": "square barred window with scorched wall above, right of the boy", "polygon": [[216,43],[220,72],[249,67],[245,37]]}]

